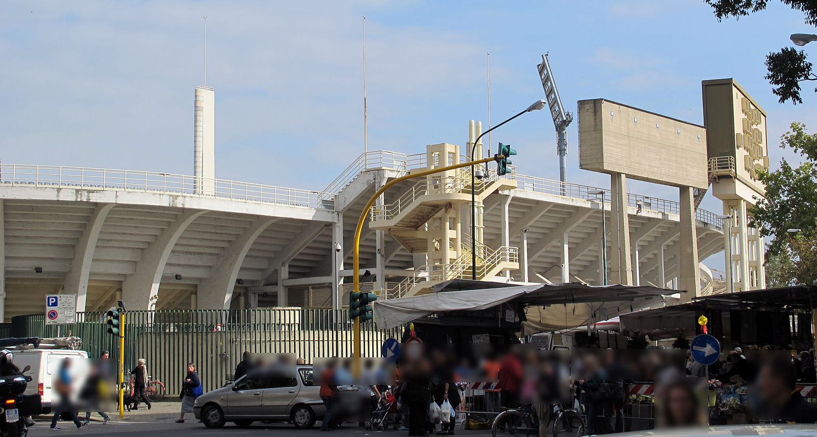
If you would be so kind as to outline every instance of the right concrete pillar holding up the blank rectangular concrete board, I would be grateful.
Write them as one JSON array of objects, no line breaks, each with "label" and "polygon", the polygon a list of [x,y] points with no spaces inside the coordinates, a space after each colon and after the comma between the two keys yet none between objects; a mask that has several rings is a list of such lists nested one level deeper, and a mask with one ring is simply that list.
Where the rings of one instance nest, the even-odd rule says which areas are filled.
[{"label": "right concrete pillar holding up the blank rectangular concrete board", "polygon": [[681,293],[681,301],[691,301],[701,292],[701,271],[698,261],[698,236],[695,228],[695,198],[692,187],[682,186],[678,189],[681,203],[681,228],[678,241],[680,256],[678,257],[678,288],[686,291]]}]

